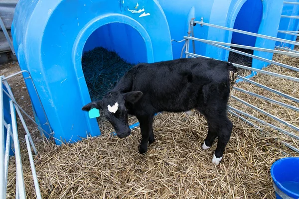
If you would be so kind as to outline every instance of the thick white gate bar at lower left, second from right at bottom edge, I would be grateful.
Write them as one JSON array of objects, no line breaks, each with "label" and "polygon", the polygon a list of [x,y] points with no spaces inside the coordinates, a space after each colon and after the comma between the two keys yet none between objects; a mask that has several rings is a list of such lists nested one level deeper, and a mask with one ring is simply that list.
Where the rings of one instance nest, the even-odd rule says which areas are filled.
[{"label": "thick white gate bar at lower left, second from right at bottom edge", "polygon": [[26,192],[25,192],[25,184],[24,184],[24,177],[23,177],[23,170],[22,170],[21,152],[20,152],[19,140],[18,140],[18,136],[17,136],[16,118],[14,116],[15,110],[14,110],[13,102],[11,100],[9,100],[9,104],[10,104],[10,115],[11,115],[11,124],[12,124],[12,134],[13,134],[13,144],[14,144],[15,164],[16,164],[19,197],[20,197],[20,199],[25,199]]}]

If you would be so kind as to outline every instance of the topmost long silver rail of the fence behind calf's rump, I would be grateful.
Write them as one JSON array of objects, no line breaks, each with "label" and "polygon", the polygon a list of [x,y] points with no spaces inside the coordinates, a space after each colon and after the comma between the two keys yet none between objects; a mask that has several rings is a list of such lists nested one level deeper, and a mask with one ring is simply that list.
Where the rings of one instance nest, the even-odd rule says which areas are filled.
[{"label": "topmost long silver rail of the fence behind calf's rump", "polygon": [[251,35],[251,36],[261,37],[261,38],[264,38],[264,39],[271,39],[271,40],[274,40],[274,41],[281,41],[281,42],[284,42],[284,43],[299,45],[299,42],[296,42],[296,41],[290,41],[290,40],[287,40],[287,39],[281,39],[281,38],[267,36],[267,35],[263,35],[263,34],[257,34],[257,33],[253,33],[253,32],[237,30],[237,29],[234,29],[234,28],[228,28],[228,27],[224,27],[224,26],[221,26],[221,25],[215,25],[215,24],[205,23],[205,22],[201,22],[201,21],[194,21],[194,23],[198,23],[200,25],[207,25],[207,26],[215,27],[215,28],[220,28],[220,29],[224,29],[224,30],[229,30],[229,31],[233,31],[233,32],[238,32],[238,33],[242,33],[242,34],[247,34],[247,35]]}]

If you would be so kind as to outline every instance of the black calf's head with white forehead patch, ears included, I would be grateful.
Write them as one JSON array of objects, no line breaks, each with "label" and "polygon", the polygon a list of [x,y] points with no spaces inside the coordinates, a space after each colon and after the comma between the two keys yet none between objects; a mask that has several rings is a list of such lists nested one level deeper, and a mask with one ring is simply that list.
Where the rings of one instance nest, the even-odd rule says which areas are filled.
[{"label": "black calf's head with white forehead patch, ears included", "polygon": [[136,103],[142,97],[139,91],[121,94],[118,91],[111,91],[102,100],[93,101],[82,107],[82,110],[89,111],[92,108],[103,110],[104,117],[111,123],[119,138],[128,137],[131,129],[128,123],[128,109],[126,103]]}]

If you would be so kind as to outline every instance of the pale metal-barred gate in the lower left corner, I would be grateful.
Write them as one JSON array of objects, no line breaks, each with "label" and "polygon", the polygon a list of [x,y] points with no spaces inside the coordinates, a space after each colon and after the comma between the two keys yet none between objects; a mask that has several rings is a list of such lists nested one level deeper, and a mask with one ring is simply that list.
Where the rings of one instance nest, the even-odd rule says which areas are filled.
[{"label": "pale metal-barred gate in the lower left corner", "polygon": [[[21,152],[20,152],[20,146],[19,146],[19,140],[18,140],[18,132],[17,132],[17,123],[16,123],[16,114],[15,111],[17,112],[17,115],[19,116],[19,119],[21,120],[21,123],[23,125],[23,128],[26,132],[25,135],[25,141],[26,141],[26,146],[27,146],[27,151],[29,155],[29,161],[30,161],[30,167],[31,167],[31,172],[33,176],[33,181],[34,181],[34,187],[35,187],[35,193],[36,193],[36,198],[41,199],[41,194],[39,190],[39,185],[38,185],[38,180],[37,180],[37,175],[35,172],[35,166],[34,166],[34,161],[33,161],[33,156],[31,152],[31,147],[35,155],[37,155],[37,150],[34,146],[33,140],[31,138],[30,132],[27,128],[27,125],[25,123],[25,120],[22,116],[22,113],[25,114],[33,123],[35,123],[38,128],[43,132],[47,132],[42,129],[40,125],[38,125],[34,119],[32,119],[21,107],[20,105],[17,104],[16,100],[13,97],[12,91],[7,83],[7,79],[16,76],[16,75],[22,75],[23,73],[28,74],[28,77],[25,78],[25,81],[31,81],[33,84],[33,87],[35,89],[34,83],[32,81],[32,78],[29,74],[28,71],[20,71],[17,73],[14,73],[10,76],[4,77],[0,76],[0,104],[1,104],[1,111],[0,111],[0,161],[4,162],[4,164],[0,164],[0,198],[5,199],[6,198],[6,189],[7,189],[7,175],[8,175],[8,163],[9,163],[9,149],[10,147],[14,149],[14,156],[15,156],[15,163],[16,163],[16,190],[15,190],[15,198],[16,199],[25,199],[26,198],[26,192],[25,192],[25,185],[24,185],[24,178],[23,178],[23,169],[22,169],[22,162],[21,162]],[[4,88],[6,88],[6,91]],[[37,91],[35,89],[35,92],[37,94]],[[10,108],[10,116],[11,116],[11,123],[8,123],[4,119],[3,115],[3,95],[6,95],[9,99],[9,108]],[[39,96],[37,94],[37,97],[39,99]],[[42,103],[39,99],[39,102],[42,106]],[[44,108],[42,106],[42,109],[44,111]],[[45,111],[44,111],[45,114]],[[50,131],[52,132],[51,126],[49,125],[47,116],[45,114],[46,120],[48,127]],[[6,142],[4,143],[4,126],[7,129],[7,134],[6,134]],[[10,146],[10,139],[13,142],[13,145]]]}]

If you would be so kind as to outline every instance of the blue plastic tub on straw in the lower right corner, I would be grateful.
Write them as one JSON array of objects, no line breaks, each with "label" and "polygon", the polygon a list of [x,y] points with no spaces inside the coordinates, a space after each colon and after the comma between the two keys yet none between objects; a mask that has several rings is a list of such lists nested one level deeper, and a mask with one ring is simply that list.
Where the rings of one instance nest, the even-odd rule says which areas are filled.
[{"label": "blue plastic tub on straw in the lower right corner", "polygon": [[271,176],[277,199],[299,199],[299,157],[276,161]]}]

